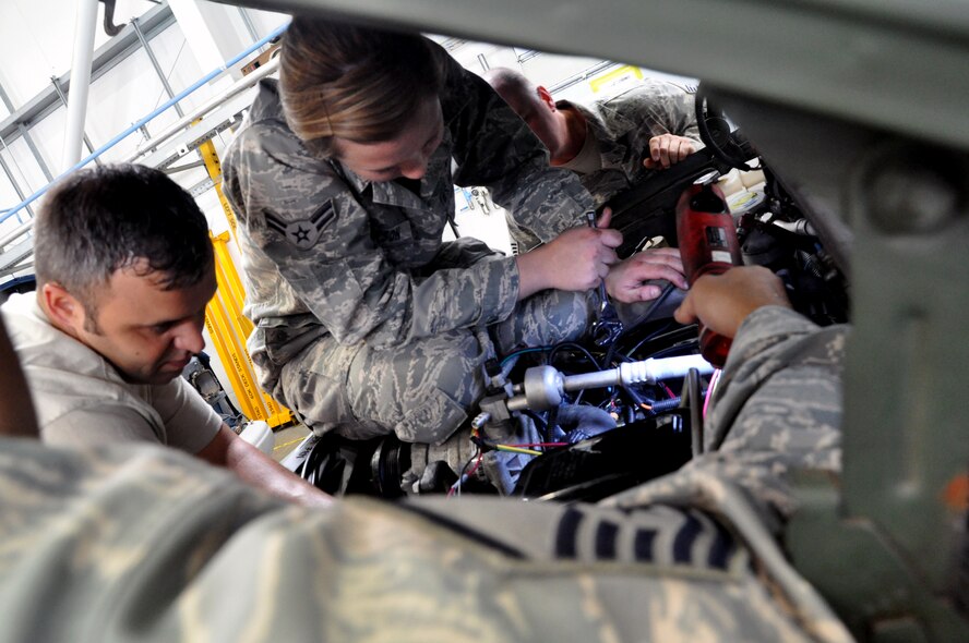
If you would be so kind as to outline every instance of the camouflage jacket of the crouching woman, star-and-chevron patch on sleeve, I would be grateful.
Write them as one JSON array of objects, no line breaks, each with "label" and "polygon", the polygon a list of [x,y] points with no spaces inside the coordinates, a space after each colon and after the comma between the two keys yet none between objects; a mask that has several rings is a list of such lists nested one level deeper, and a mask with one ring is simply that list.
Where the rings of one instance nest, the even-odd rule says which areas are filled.
[{"label": "camouflage jacket of the crouching woman, star-and-chevron patch on sleeve", "polygon": [[[263,81],[225,156],[239,219],[250,351],[263,387],[313,339],[391,345],[505,318],[517,299],[513,258],[460,242],[441,267],[454,185],[486,185],[519,225],[548,241],[581,225],[588,193],[482,80],[438,48],[447,68],[444,139],[419,194],[360,179],[314,157],[286,125],[276,83]],[[454,168],[454,169],[453,169]]]}]

